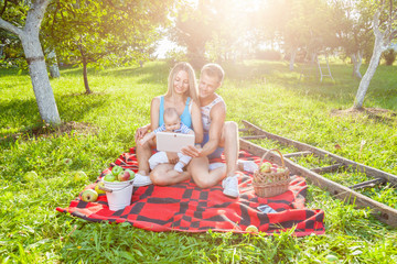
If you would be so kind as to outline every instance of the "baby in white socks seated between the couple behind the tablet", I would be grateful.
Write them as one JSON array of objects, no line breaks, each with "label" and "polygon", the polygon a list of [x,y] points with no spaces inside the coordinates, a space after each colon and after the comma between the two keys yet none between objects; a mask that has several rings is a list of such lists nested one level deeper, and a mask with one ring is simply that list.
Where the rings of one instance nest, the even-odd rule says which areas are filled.
[{"label": "baby in white socks seated between the couple behind the tablet", "polygon": [[[139,144],[143,145],[147,141],[153,139],[158,132],[194,134],[193,130],[191,130],[184,123],[181,122],[181,119],[175,108],[164,109],[163,119],[164,119],[164,123],[161,127],[159,127],[157,130],[146,134],[143,139],[139,141]],[[174,169],[179,173],[182,173],[183,167],[189,164],[192,157],[183,155],[182,153],[178,153],[178,156],[180,160],[175,164]],[[149,158],[150,169],[153,169],[157,165],[162,163],[169,163],[165,152],[158,152]]]}]

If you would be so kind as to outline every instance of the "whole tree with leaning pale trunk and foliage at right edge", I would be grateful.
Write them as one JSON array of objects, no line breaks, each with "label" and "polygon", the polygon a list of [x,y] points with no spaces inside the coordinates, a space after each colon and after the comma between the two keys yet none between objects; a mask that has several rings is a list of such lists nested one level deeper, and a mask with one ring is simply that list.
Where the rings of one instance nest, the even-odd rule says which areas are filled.
[{"label": "whole tree with leaning pale trunk and foliage at right edge", "polygon": [[360,81],[358,90],[354,100],[353,108],[362,109],[365,95],[368,90],[371,79],[374,77],[382,53],[387,50],[391,41],[397,37],[396,16],[397,9],[394,8],[396,1],[377,1],[367,3],[367,9],[374,10],[373,31],[375,35],[374,51],[367,70]]}]

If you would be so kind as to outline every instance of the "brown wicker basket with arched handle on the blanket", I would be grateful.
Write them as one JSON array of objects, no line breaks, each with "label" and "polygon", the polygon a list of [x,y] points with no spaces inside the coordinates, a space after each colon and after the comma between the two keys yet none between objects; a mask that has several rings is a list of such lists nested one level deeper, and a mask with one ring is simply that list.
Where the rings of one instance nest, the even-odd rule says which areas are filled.
[{"label": "brown wicker basket with arched handle on the blanket", "polygon": [[[271,151],[277,151],[278,154],[280,155],[282,163],[281,168],[285,169],[283,172],[278,172],[278,173],[260,172],[260,166],[262,165],[266,155]],[[289,183],[291,182],[289,174],[290,172],[285,166],[285,161],[281,152],[277,148],[267,151],[260,161],[259,169],[254,172],[253,185],[254,185],[255,194],[259,197],[272,197],[286,193],[288,190]]]}]

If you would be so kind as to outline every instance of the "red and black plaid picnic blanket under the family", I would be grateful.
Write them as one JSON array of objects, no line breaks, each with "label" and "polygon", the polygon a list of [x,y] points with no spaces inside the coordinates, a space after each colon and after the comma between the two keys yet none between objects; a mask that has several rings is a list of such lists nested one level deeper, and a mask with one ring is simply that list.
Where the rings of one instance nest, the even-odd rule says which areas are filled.
[{"label": "red and black plaid picnic blanket under the family", "polygon": [[[260,157],[245,151],[239,153],[239,160],[250,160],[257,164],[260,162]],[[224,162],[223,156],[221,161]],[[121,154],[101,173],[97,182],[115,165],[137,172],[135,148]],[[131,205],[118,211],[109,210],[105,194],[99,195],[95,202],[85,202],[79,195],[67,208],[58,207],[56,210],[94,222],[127,221],[133,227],[151,231],[206,232],[211,229],[244,233],[248,226],[254,224],[260,232],[268,234],[291,228],[294,228],[297,237],[324,233],[324,212],[321,209],[304,208],[304,178],[293,176],[287,193],[271,198],[260,198],[255,195],[251,186],[253,174],[238,174],[240,197],[237,199],[223,195],[221,183],[212,188],[201,189],[192,180],[186,180],[167,187],[136,187]],[[96,183],[86,188],[94,188]],[[260,211],[258,206],[262,205],[268,205],[277,212]]]}]

